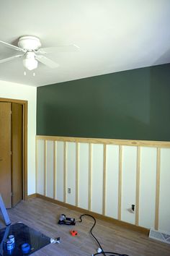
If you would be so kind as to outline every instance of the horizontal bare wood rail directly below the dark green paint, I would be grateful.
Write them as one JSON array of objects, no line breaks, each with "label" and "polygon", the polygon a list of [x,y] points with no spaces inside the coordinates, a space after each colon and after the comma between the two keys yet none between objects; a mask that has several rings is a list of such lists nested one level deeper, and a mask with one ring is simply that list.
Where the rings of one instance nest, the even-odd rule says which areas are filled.
[{"label": "horizontal bare wood rail directly below the dark green paint", "polygon": [[85,137],[58,137],[58,136],[42,136],[37,135],[40,140],[57,140],[63,142],[84,142],[94,144],[111,144],[111,145],[127,145],[127,146],[143,146],[151,148],[170,148],[170,142],[151,141],[151,140],[115,140],[102,138],[85,138]]}]

